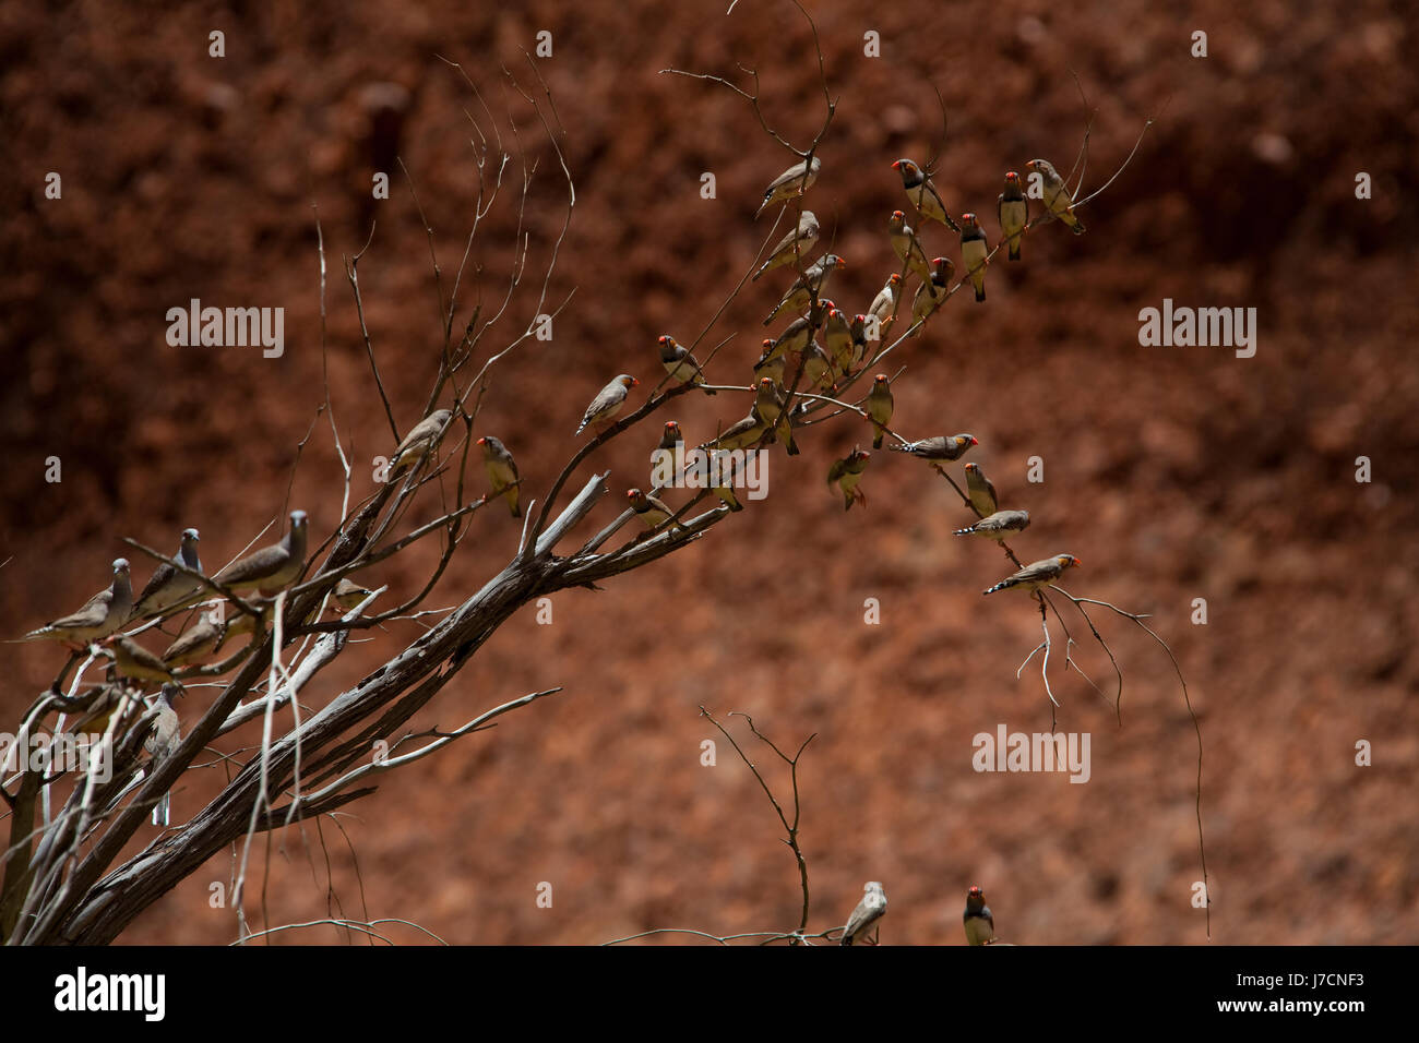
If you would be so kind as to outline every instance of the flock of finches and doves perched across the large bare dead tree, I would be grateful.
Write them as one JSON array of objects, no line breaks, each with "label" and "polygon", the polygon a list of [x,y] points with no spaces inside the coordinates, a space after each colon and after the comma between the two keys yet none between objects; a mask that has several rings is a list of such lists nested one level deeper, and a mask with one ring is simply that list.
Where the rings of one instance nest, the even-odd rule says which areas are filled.
[{"label": "flock of finches and doves perched across the large bare dead tree", "polygon": [[[1076,234],[1083,233],[1084,226],[1074,214],[1070,193],[1054,166],[1043,159],[1033,159],[1027,166],[1040,176],[1042,197],[1050,217],[1064,223]],[[910,275],[917,275],[921,280],[911,304],[912,322],[908,335],[920,332],[952,292],[949,284],[955,265],[951,258],[937,257],[928,261],[921,240],[905,223],[905,214],[901,210],[894,210],[888,219],[887,230],[893,251],[902,264],[901,271],[893,272],[867,311],[851,319],[830,298],[823,297],[822,291],[829,278],[837,268],[844,267],[844,261],[837,254],[829,253],[813,264],[803,265],[806,254],[817,243],[820,227],[817,217],[810,210],[803,210],[799,200],[815,183],[820,169],[822,160],[815,156],[812,162],[805,160],[785,170],[769,183],[763,193],[763,202],[755,214],[758,217],[775,203],[797,206],[796,227],[775,245],[768,260],[752,275],[753,280],[759,280],[779,268],[793,267],[797,275],[765,319],[765,325],[771,325],[782,315],[793,318],[779,336],[763,341],[763,352],[753,365],[756,383],[749,414],[702,444],[700,448],[708,454],[780,443],[789,456],[797,456],[799,447],[793,437],[795,420],[805,414],[810,402],[844,404],[830,396],[843,382],[861,373],[871,353],[868,343],[880,339],[881,331],[897,322],[897,312],[902,305],[907,288],[905,280]],[[912,160],[898,159],[893,163],[893,169],[901,175],[908,202],[924,220],[939,221],[959,233],[961,258],[975,288],[976,301],[985,301],[985,272],[990,253],[976,216],[965,213],[961,216],[959,224],[952,220],[939,192],[931,183],[931,177]],[[1030,221],[1029,202],[1020,176],[1013,170],[1005,176],[1005,190],[999,196],[996,214],[1007,257],[1012,261],[1019,260],[1022,241]],[[823,343],[817,341],[819,332],[823,335]],[[705,394],[724,390],[710,385],[700,362],[675,338],[666,335],[657,343],[661,365],[670,379],[681,385],[697,386]],[[786,380],[789,372],[795,373],[792,380]],[[806,394],[797,392],[799,376],[806,377],[815,392]],[[586,407],[576,434],[580,436],[587,429],[592,430],[593,436],[603,433],[620,413],[630,389],[639,383],[629,373],[616,376]],[[731,387],[728,390],[742,389]],[[822,392],[822,394],[816,392]],[[795,394],[802,396],[803,400],[796,409],[790,409],[789,402]],[[884,437],[890,433],[888,424],[893,417],[891,382],[887,375],[878,373],[873,379],[871,390],[861,409],[857,406],[849,409],[860,412],[871,424],[873,448],[881,448]],[[390,458],[389,481],[410,468],[423,465],[437,450],[453,417],[454,410],[438,409],[416,424]],[[961,460],[966,451],[979,444],[975,436],[966,433],[920,441],[900,441],[901,444],[891,444],[888,448],[925,460],[938,470],[942,464]],[[478,438],[477,444],[482,448],[490,484],[490,492],[485,498],[501,497],[512,517],[519,518],[518,490],[521,480],[512,453],[499,438],[492,436]],[[683,460],[684,436],[674,420],[666,423],[657,448],[674,450],[675,460]],[[854,504],[867,505],[867,495],[860,488],[860,482],[870,458],[871,453],[854,447],[851,453],[841,460],[834,460],[829,467],[827,484],[830,488],[837,485],[843,494],[844,509],[851,509]],[[979,535],[1003,542],[1006,536],[1029,526],[1030,515],[1027,511],[999,509],[995,485],[986,478],[979,464],[966,464],[965,477],[969,501],[979,515],[979,521],[958,529],[956,535]],[[725,509],[741,511],[744,505],[734,492],[732,478],[732,474],[725,474],[724,484],[712,491],[724,502]],[[680,525],[675,519],[675,511],[658,500],[654,495],[656,491],[658,490],[651,490],[651,492],[639,488],[627,490],[626,497],[631,511],[650,529],[667,524]],[[87,692],[87,698],[82,700],[84,714],[74,725],[75,734],[111,729],[116,718],[122,718],[129,710],[136,710],[142,704],[142,697],[150,688],[160,685],[160,695],[155,701],[156,727],[148,735],[146,745],[155,758],[165,756],[176,748],[179,729],[172,702],[182,694],[182,681],[197,673],[204,675],[221,673],[223,664],[206,666],[206,663],[220,654],[228,640],[243,633],[255,633],[258,624],[267,622],[274,597],[294,583],[305,568],[307,515],[304,511],[292,511],[289,528],[278,543],[237,559],[213,576],[210,582],[201,569],[197,541],[197,529],[184,529],[176,556],[162,562],[153,570],[136,599],[131,585],[129,563],[123,558],[116,559],[112,563],[112,582],[106,589],[94,595],[78,612],[55,619],[26,636],[24,640],[62,641],[75,651],[92,649],[95,654],[112,660],[108,683]],[[1034,592],[1042,586],[1049,586],[1078,563],[1078,558],[1073,555],[1054,555],[1026,565],[985,593],[1006,589]],[[221,596],[211,597],[213,593]],[[255,613],[243,607],[231,619],[227,619],[226,593],[250,596],[250,600],[247,597],[243,600],[247,602],[247,607],[254,607]],[[162,623],[177,613],[189,612],[199,602],[203,602],[204,596],[207,600],[203,603],[197,622],[184,629],[160,654],[135,640],[133,634],[148,630],[153,620]],[[369,596],[370,592],[366,587],[349,579],[339,580],[338,586],[331,590],[332,607],[342,612],[352,610]],[[123,633],[125,629],[132,633]],[[233,664],[236,661],[238,661],[236,657],[230,660]],[[166,810],[163,812],[163,824],[166,824]]]}]

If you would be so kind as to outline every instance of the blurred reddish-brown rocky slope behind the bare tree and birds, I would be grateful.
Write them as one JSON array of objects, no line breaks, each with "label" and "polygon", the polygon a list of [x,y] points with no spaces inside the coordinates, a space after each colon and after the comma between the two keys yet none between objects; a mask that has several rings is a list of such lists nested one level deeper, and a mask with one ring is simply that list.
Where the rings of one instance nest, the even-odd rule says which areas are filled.
[{"label": "blurred reddish-brown rocky slope behind the bare tree and birds", "polygon": [[[1412,125],[1415,74],[1402,26],[1291,7],[1218,7],[1205,26],[1212,57],[1200,60],[1189,57],[1199,26],[1145,3],[1046,23],[986,3],[949,16],[927,3],[870,17],[822,11],[841,102],[810,192],[817,253],[847,258],[830,294],[846,314],[866,311],[898,267],[883,231],[904,202],[891,162],[924,160],[941,136],[931,82],[951,114],[937,183],[954,214],[982,214],[992,241],[1005,170],[1023,173],[1039,155],[1061,170],[1073,162],[1086,112],[1070,67],[1098,108],[1086,187],[1161,114],[1132,166],[1081,210],[1087,234],[1034,228],[1022,264],[992,264],[988,304],[961,297],[895,355],[908,370],[893,383],[894,424],[911,437],[976,434],[971,458],[1000,505],[1032,512],[1012,541],[1022,559],[1076,553],[1074,593],[1154,613],[1206,742],[1213,938],[1413,944],[1419,302],[1409,244],[1419,186],[1402,128]],[[552,341],[497,366],[474,433],[495,433],[515,453],[524,502],[541,498],[575,450],[570,431],[596,389],[630,372],[643,385],[633,396],[643,394],[647,377],[660,377],[656,338],[688,345],[771,234],[769,213],[756,224],[751,216],[792,156],[728,91],[657,71],[758,67],[768,119],[799,142],[822,115],[810,37],[788,4],[728,18],[646,3],[579,4],[575,17],[487,4],[299,11],[298,23],[219,26],[111,6],[101,31],[87,33],[38,9],[9,16],[6,634],[77,607],[118,553],[135,559],[142,582],[146,566],[123,535],[170,549],[196,525],[213,569],[282,515],[295,446],[324,399],[316,216],[329,265],[329,393],[356,461],[353,492],[370,488],[369,461],[392,437],[342,270],[370,219],[360,289],[402,431],[419,420],[441,343],[440,291],[407,179],[393,166],[390,199],[375,202],[372,165],[392,155],[407,165],[436,231],[443,299],[477,199],[477,133],[464,109],[481,111],[434,53],[463,61],[501,115],[498,64],[519,65],[538,30],[553,33],[539,70],[566,129],[578,204],[548,301],[572,287],[576,295]],[[227,34],[221,60],[206,53],[214,28]],[[881,58],[863,55],[866,28],[881,34]],[[541,272],[566,192],[545,131],[521,101],[514,114],[541,158],[525,214],[529,271]],[[501,133],[512,148],[505,119]],[[62,200],[44,199],[51,170]],[[704,172],[717,177],[714,200],[700,197]],[[1355,199],[1358,172],[1372,177],[1369,200]],[[485,302],[505,285],[519,182],[514,158],[471,254]],[[918,231],[928,257],[958,254],[941,226]],[[531,322],[539,285],[525,280],[504,329]],[[739,336],[708,363],[712,380],[749,383],[759,319],[785,285],[766,278],[725,312],[712,342]],[[1141,348],[1137,312],[1165,297],[1256,307],[1256,358]],[[285,353],[167,346],[163,316],[192,298],[284,308]],[[467,278],[458,299],[455,331],[477,299]],[[480,355],[502,343],[490,335]],[[613,488],[639,484],[664,420],[694,444],[745,404],[732,393],[678,399],[599,467],[613,470]],[[773,458],[769,497],[710,539],[603,592],[556,595],[551,626],[528,606],[504,627],[416,725],[448,728],[526,691],[566,691],[348,809],[359,816],[345,829],[373,915],[394,911],[448,941],[534,944],[796,924],[797,874],[756,783],[722,741],[717,766],[700,762],[700,744],[718,738],[698,717],[704,704],[751,714],[785,746],[817,732],[800,771],[816,928],[840,925],[863,881],[880,880],[891,901],[885,942],[962,944],[965,888],[979,883],[1007,941],[1203,941],[1189,904],[1200,878],[1196,739],[1166,656],[1095,612],[1127,674],[1122,728],[1077,674],[1054,677],[1060,727],[1091,732],[1090,782],[973,772],[975,734],[1050,725],[1039,660],[1015,675],[1039,640],[1039,616],[1016,595],[981,597],[1013,566],[992,543],[951,535],[972,515],[924,464],[874,454],[863,480],[870,509],[843,512],[823,474],[868,437],[847,420],[809,429],[800,457]],[[62,461],[57,485],[43,477],[50,456]],[[1032,456],[1044,460],[1043,484],[1026,481]],[[1365,485],[1354,481],[1361,456],[1374,467]],[[480,482],[477,454],[474,464]],[[311,514],[312,543],[338,521],[341,481],[322,419],[292,492]],[[612,497],[589,524],[617,509]],[[481,586],[517,536],[504,511],[481,514],[475,546],[430,605]],[[420,546],[375,579],[412,592],[434,552]],[[766,576],[778,579],[751,596],[751,580]],[[880,626],[863,620],[870,597]],[[1189,622],[1196,597],[1208,602],[1206,626]],[[647,599],[668,607],[647,613]],[[1083,668],[1112,694],[1108,660],[1083,620],[1069,622]],[[396,627],[352,650],[308,704],[324,705],[414,634]],[[4,721],[58,661],[54,649],[0,646]],[[206,705],[190,700],[184,719],[194,704]],[[1371,768],[1354,763],[1361,739],[1375,746]],[[228,738],[230,748],[254,741]],[[786,773],[759,762],[786,786]],[[173,820],[223,778],[190,772]],[[359,908],[343,839],[325,829],[325,841],[333,885],[346,910]],[[324,857],[311,854],[316,883],[291,843],[289,864],[272,860],[271,924],[325,908]],[[228,868],[214,859],[125,941],[230,939],[230,910],[207,908],[209,884]],[[536,903],[543,881],[551,908]],[[301,941],[336,937],[308,931]]]}]

